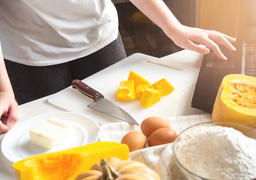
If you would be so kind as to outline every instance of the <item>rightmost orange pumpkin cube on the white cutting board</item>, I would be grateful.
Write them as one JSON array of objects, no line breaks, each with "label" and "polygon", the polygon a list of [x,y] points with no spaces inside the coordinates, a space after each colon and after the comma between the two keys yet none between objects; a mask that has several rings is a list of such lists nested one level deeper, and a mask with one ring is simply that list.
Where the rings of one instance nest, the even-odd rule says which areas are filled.
[{"label": "rightmost orange pumpkin cube on the white cutting board", "polygon": [[171,92],[173,92],[174,90],[173,86],[165,78],[153,83],[152,87],[154,89],[159,90],[161,93],[161,96],[166,96],[168,94],[171,94]]}]

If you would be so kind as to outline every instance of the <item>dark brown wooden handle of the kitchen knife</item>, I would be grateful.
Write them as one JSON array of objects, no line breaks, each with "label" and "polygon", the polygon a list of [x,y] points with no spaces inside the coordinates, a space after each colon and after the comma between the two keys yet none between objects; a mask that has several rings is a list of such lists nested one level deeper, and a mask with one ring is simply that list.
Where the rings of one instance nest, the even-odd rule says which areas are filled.
[{"label": "dark brown wooden handle of the kitchen knife", "polygon": [[88,96],[91,99],[93,99],[94,102],[104,99],[104,96],[101,93],[92,89],[90,86],[88,86],[87,84],[83,83],[78,79],[74,79],[71,85],[72,85],[72,88],[79,90],[80,92],[85,94],[85,96]]}]

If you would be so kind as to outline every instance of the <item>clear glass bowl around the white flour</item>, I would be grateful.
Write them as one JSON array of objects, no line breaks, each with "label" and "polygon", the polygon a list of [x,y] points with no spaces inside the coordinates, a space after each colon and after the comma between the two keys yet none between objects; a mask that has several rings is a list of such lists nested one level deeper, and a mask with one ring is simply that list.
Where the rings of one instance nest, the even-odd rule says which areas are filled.
[{"label": "clear glass bowl around the white flour", "polygon": [[[203,178],[200,176],[200,174],[195,174],[195,173],[189,171],[188,169],[186,169],[186,167],[184,167],[184,165],[181,164],[181,162],[178,160],[178,158],[176,156],[177,144],[181,140],[182,136],[184,136],[185,133],[188,133],[189,131],[191,131],[192,128],[198,128],[198,127],[202,128],[204,126],[207,127],[207,126],[213,126],[213,125],[218,125],[218,126],[222,126],[222,127],[232,127],[235,130],[238,130],[241,133],[243,133],[245,136],[247,136],[249,138],[256,139],[256,128],[251,127],[249,125],[228,122],[228,121],[205,122],[205,123],[196,124],[196,125],[193,125],[193,126],[187,128],[186,130],[182,131],[177,136],[177,138],[174,140],[174,143],[173,143],[173,155],[175,158],[175,162],[185,180],[209,180],[209,179]],[[195,162],[195,163],[197,163],[197,162]],[[255,180],[255,178],[253,180]]]}]

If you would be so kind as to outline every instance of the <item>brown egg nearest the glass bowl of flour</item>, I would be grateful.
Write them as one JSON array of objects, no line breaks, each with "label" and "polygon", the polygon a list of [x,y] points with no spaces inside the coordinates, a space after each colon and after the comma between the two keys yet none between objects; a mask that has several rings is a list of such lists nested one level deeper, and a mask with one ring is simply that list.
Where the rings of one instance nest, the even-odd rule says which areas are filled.
[{"label": "brown egg nearest the glass bowl of flour", "polygon": [[149,136],[148,145],[157,146],[157,145],[172,143],[176,137],[177,137],[177,134],[175,131],[169,128],[161,128],[161,129],[155,130]]}]

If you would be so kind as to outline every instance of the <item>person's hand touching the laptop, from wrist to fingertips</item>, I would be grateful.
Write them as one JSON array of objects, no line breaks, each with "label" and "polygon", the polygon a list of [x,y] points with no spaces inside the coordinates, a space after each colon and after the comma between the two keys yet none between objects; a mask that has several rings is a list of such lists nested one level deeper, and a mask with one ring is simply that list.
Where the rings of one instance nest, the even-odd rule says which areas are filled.
[{"label": "person's hand touching the laptop, from wrist to fingertips", "polygon": [[[177,46],[193,50],[201,54],[208,54],[210,52],[209,49],[211,49],[222,60],[227,60],[227,57],[223,55],[218,45],[222,44],[231,51],[236,50],[236,48],[231,44],[231,42],[236,41],[236,38],[218,31],[208,31],[180,24],[175,27],[174,31],[173,29],[170,32],[167,30],[165,33]],[[200,46],[200,44],[204,46]]]}]

